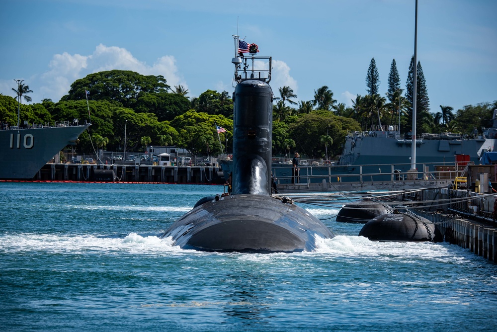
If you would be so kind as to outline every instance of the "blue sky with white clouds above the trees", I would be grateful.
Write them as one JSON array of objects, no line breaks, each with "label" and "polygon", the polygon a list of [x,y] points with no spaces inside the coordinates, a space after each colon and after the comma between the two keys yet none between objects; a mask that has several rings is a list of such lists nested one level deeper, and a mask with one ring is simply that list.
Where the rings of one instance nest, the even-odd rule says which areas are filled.
[{"label": "blue sky with white clouds above the trees", "polygon": [[[0,93],[24,80],[58,101],[104,70],[163,75],[188,96],[233,92],[233,34],[271,56],[275,95],[327,85],[347,106],[366,94],[372,58],[385,95],[392,60],[405,88],[414,0],[1,0]],[[419,0],[417,59],[432,112],[497,99],[496,0]]]}]

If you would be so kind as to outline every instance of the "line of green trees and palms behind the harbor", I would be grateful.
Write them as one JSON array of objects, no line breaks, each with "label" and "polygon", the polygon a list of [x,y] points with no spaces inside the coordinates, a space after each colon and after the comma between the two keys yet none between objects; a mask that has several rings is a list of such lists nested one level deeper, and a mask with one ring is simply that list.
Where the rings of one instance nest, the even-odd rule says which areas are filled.
[{"label": "line of green trees and palms behind the harbor", "polygon": [[[410,72],[414,66],[411,62]],[[367,94],[357,95],[352,107],[337,104],[328,86],[314,92],[314,99],[295,101],[289,86],[278,88],[273,102],[273,155],[291,156],[294,151],[309,158],[331,158],[342,151],[347,133],[368,130],[374,125],[398,125],[406,132],[412,122],[412,74],[402,96],[395,60],[392,62],[386,97],[378,93],[379,75],[374,58],[367,76]],[[417,64],[418,133],[461,132],[489,127],[497,101],[468,105],[455,114],[452,107],[440,106],[429,112],[427,89],[420,63]],[[193,155],[218,155],[230,152],[233,140],[233,100],[227,91],[207,90],[188,97],[181,85],[170,87],[163,76],[144,76],[132,71],[112,70],[94,73],[71,84],[60,101],[30,101],[28,85],[12,89],[17,99],[0,95],[0,121],[17,124],[44,124],[79,119],[91,122],[80,136],[77,149],[93,153],[93,146],[108,151],[144,151],[147,145],[175,145]],[[411,97],[411,99],[410,99]],[[88,99],[88,100],[86,100]],[[89,108],[89,111],[88,111]],[[410,117],[411,116],[411,117]],[[226,129],[218,133],[215,125]],[[91,135],[91,140],[90,136]]]}]

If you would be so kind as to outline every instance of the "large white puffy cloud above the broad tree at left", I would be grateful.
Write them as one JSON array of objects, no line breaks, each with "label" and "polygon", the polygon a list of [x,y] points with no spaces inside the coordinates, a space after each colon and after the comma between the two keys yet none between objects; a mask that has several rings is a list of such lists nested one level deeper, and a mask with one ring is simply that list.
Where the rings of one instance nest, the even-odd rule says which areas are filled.
[{"label": "large white puffy cloud above the broad tree at left", "polygon": [[[40,91],[44,96],[58,101],[67,94],[71,84],[88,74],[108,70],[131,70],[142,75],[162,75],[167,84],[173,88],[181,84],[188,85],[178,73],[173,56],[163,56],[149,66],[131,54],[128,50],[117,46],[98,45],[91,55],[71,55],[67,52],[54,55],[49,64],[50,70],[41,75]],[[41,98],[39,98],[41,100]],[[37,100],[33,98],[33,100]]]}]

